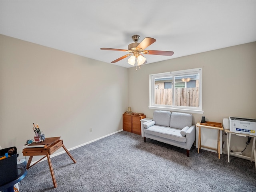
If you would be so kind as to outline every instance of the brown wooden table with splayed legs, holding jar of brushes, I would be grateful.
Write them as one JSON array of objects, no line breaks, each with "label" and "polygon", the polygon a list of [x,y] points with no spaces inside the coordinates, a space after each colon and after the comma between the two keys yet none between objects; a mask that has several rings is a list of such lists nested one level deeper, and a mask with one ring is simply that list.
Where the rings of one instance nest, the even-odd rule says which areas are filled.
[{"label": "brown wooden table with splayed legs, holding jar of brushes", "polygon": [[[52,182],[53,182],[54,188],[57,187],[57,183],[56,183],[56,179],[54,176],[50,155],[53,154],[56,150],[58,150],[61,147],[64,148],[64,150],[70,156],[70,158],[73,160],[73,162],[76,163],[76,160],[74,160],[72,155],[68,152],[68,150],[66,149],[66,147],[63,144],[63,140],[60,140],[60,137],[45,138],[44,142],[29,144],[27,146],[27,148],[24,148],[22,150],[23,156],[30,156],[29,160],[28,160],[27,167],[26,167],[27,169],[29,169],[30,167],[34,166],[35,164],[37,164],[38,162],[43,160],[45,157],[47,157],[50,172],[52,175]],[[38,156],[38,155],[44,155],[44,157],[30,166],[33,156]]]}]

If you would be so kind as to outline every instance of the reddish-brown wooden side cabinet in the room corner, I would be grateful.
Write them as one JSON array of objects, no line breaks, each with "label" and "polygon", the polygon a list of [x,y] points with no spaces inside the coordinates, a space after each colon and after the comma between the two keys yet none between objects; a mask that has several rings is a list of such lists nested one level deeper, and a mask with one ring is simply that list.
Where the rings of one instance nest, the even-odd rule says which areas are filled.
[{"label": "reddish-brown wooden side cabinet in the room corner", "polygon": [[140,120],[146,115],[123,114],[123,130],[141,135]]}]

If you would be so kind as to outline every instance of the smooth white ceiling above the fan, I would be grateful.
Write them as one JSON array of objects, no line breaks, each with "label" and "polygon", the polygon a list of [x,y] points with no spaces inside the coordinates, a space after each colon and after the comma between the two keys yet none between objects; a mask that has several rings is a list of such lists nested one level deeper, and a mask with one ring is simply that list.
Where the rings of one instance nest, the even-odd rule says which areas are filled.
[{"label": "smooth white ceiling above the fan", "polygon": [[[1,0],[0,33],[110,63],[132,35],[152,37],[148,63],[256,41],[256,1]],[[127,58],[116,63],[123,67]]]}]

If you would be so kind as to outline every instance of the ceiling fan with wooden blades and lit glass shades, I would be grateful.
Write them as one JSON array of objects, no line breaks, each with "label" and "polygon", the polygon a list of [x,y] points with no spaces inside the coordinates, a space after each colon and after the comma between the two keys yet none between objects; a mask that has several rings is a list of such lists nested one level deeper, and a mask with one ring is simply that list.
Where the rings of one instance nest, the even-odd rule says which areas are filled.
[{"label": "ceiling fan with wooden blades and lit glass shades", "polygon": [[128,45],[128,50],[126,49],[114,49],[114,48],[100,48],[101,50],[111,50],[111,51],[125,51],[129,52],[129,54],[126,54],[111,63],[116,63],[126,57],[129,57],[128,64],[132,66],[140,66],[142,64],[147,63],[146,58],[142,56],[142,54],[150,54],[150,55],[164,55],[164,56],[172,56],[174,54],[173,51],[156,51],[156,50],[145,50],[148,46],[150,46],[152,43],[156,42],[154,38],[146,37],[144,40],[140,43],[138,43],[138,40],[140,39],[139,35],[132,36],[132,40],[134,40],[135,43],[131,43]]}]

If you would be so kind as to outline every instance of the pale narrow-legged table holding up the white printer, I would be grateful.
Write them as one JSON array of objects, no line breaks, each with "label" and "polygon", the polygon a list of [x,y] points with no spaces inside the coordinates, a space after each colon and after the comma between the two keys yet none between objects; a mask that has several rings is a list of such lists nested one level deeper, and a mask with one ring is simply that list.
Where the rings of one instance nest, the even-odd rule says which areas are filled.
[{"label": "pale narrow-legged table holding up the white printer", "polygon": [[[224,131],[227,134],[227,149],[228,149],[228,162],[230,162],[229,156],[235,156],[235,157],[239,157],[239,158],[243,158],[246,160],[250,160],[252,162],[253,160],[253,155],[254,155],[254,162],[255,162],[255,169],[256,169],[256,150],[255,150],[255,140],[256,140],[256,136],[254,135],[249,135],[249,134],[243,134],[243,133],[235,133],[235,132],[231,132],[229,129],[224,129]],[[231,142],[231,134],[236,134],[237,136],[248,136],[248,137],[253,137],[253,143],[252,143],[252,152],[251,152],[251,156],[245,156],[242,154],[236,154],[235,152],[231,152],[230,150],[230,142]]]}]

